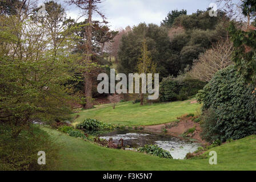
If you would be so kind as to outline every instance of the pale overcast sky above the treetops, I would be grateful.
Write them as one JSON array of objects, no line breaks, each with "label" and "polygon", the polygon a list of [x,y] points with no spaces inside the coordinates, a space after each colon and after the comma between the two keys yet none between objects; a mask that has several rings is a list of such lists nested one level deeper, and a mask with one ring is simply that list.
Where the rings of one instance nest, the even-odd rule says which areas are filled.
[{"label": "pale overcast sky above the treetops", "polygon": [[[63,3],[64,1],[59,0]],[[110,28],[134,26],[138,23],[160,24],[171,10],[187,10],[187,14],[206,10],[214,0],[103,0],[99,9],[105,14]],[[67,15],[77,18],[79,9],[75,6],[66,6]],[[94,19],[98,17],[94,16]]]}]

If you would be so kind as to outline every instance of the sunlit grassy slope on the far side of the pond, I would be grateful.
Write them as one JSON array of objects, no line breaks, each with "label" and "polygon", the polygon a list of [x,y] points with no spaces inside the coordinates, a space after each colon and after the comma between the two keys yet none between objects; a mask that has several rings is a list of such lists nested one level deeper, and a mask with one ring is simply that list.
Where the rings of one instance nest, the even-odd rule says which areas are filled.
[{"label": "sunlit grassy slope on the far side of the pond", "polygon": [[199,114],[201,105],[190,104],[190,101],[177,101],[152,105],[139,105],[132,102],[118,103],[113,109],[111,104],[99,105],[95,109],[83,110],[75,123],[82,122],[86,118],[98,119],[102,122],[109,122],[125,126],[157,125],[168,123],[177,119],[183,114]]}]

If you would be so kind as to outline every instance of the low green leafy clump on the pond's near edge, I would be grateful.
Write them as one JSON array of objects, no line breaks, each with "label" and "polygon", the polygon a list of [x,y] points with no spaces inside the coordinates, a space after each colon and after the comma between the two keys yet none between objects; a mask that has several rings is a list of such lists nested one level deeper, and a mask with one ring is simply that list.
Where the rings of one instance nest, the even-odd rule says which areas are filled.
[{"label": "low green leafy clump on the pond's near edge", "polygon": [[173,157],[171,154],[163,150],[162,148],[158,147],[157,144],[145,144],[143,147],[138,148],[139,152],[146,152],[147,154],[159,156],[160,158],[167,158],[167,159],[172,159]]}]

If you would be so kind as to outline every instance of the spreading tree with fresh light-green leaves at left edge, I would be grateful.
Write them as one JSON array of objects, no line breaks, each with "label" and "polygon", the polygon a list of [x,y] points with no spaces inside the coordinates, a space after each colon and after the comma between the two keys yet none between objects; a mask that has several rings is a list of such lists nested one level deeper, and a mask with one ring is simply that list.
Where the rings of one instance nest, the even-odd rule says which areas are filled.
[{"label": "spreading tree with fresh light-green leaves at left edge", "polygon": [[70,113],[63,85],[72,65],[66,56],[70,44],[54,56],[47,28],[20,15],[0,16],[0,122],[13,138],[31,123],[66,119]]}]

